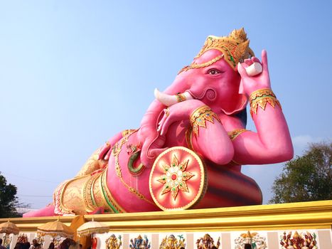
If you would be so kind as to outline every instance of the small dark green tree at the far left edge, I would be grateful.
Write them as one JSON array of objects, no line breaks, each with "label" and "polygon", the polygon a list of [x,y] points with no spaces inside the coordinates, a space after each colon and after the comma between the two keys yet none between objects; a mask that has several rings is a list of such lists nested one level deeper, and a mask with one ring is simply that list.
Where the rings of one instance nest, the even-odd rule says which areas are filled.
[{"label": "small dark green tree at the far left edge", "polygon": [[7,184],[6,178],[0,172],[0,218],[18,217],[16,193],[16,186]]}]

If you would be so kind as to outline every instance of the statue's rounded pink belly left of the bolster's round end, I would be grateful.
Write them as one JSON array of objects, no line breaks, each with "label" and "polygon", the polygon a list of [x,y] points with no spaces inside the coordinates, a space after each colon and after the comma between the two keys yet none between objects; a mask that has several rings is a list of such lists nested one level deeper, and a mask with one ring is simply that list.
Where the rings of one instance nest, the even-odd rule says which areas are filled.
[{"label": "statue's rounded pink belly left of the bolster's round end", "polygon": [[[114,146],[112,157],[109,158],[107,184],[112,198],[124,211],[158,211],[160,209],[154,203],[149,191],[150,169],[140,166],[141,169],[136,171],[141,164],[139,158],[141,144],[136,134],[122,138]],[[133,157],[136,157],[134,161]]]}]

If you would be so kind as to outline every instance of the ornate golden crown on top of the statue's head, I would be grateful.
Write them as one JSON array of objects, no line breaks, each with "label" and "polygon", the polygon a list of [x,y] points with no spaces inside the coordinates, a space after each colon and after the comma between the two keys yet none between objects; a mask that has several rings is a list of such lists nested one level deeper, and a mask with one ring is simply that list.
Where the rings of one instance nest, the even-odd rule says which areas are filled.
[{"label": "ornate golden crown on top of the statue's head", "polygon": [[254,52],[249,48],[249,40],[244,28],[233,30],[229,36],[208,36],[203,48],[195,58],[200,57],[200,55],[203,55],[210,49],[217,49],[223,53],[225,60],[234,70],[237,63],[255,56]]}]

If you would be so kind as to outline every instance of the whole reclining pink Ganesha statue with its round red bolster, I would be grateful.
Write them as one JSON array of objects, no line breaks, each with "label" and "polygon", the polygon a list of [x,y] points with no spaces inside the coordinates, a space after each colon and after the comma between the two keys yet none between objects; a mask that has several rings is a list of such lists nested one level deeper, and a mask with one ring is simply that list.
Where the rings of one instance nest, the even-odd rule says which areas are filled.
[{"label": "whole reclining pink Ganesha statue with its round red bolster", "polygon": [[[261,72],[250,73],[253,65]],[[191,65],[155,96],[139,129],[109,139],[55,189],[52,204],[24,216],[262,204],[259,186],[241,165],[293,157],[267,52],[260,62],[243,28],[208,36]],[[248,102],[257,132],[245,129]]]}]

